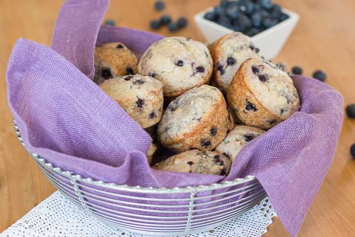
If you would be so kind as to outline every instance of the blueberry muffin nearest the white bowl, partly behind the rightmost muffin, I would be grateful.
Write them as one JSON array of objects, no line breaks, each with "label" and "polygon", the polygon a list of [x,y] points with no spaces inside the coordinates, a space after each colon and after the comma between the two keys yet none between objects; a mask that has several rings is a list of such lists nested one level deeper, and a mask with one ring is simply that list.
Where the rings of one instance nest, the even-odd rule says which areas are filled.
[{"label": "blueberry muffin nearest the white bowl, partly behind the rightmost muffin", "polygon": [[260,58],[251,38],[240,32],[230,33],[207,46],[214,61],[211,86],[227,93],[239,66],[248,58]]}]

